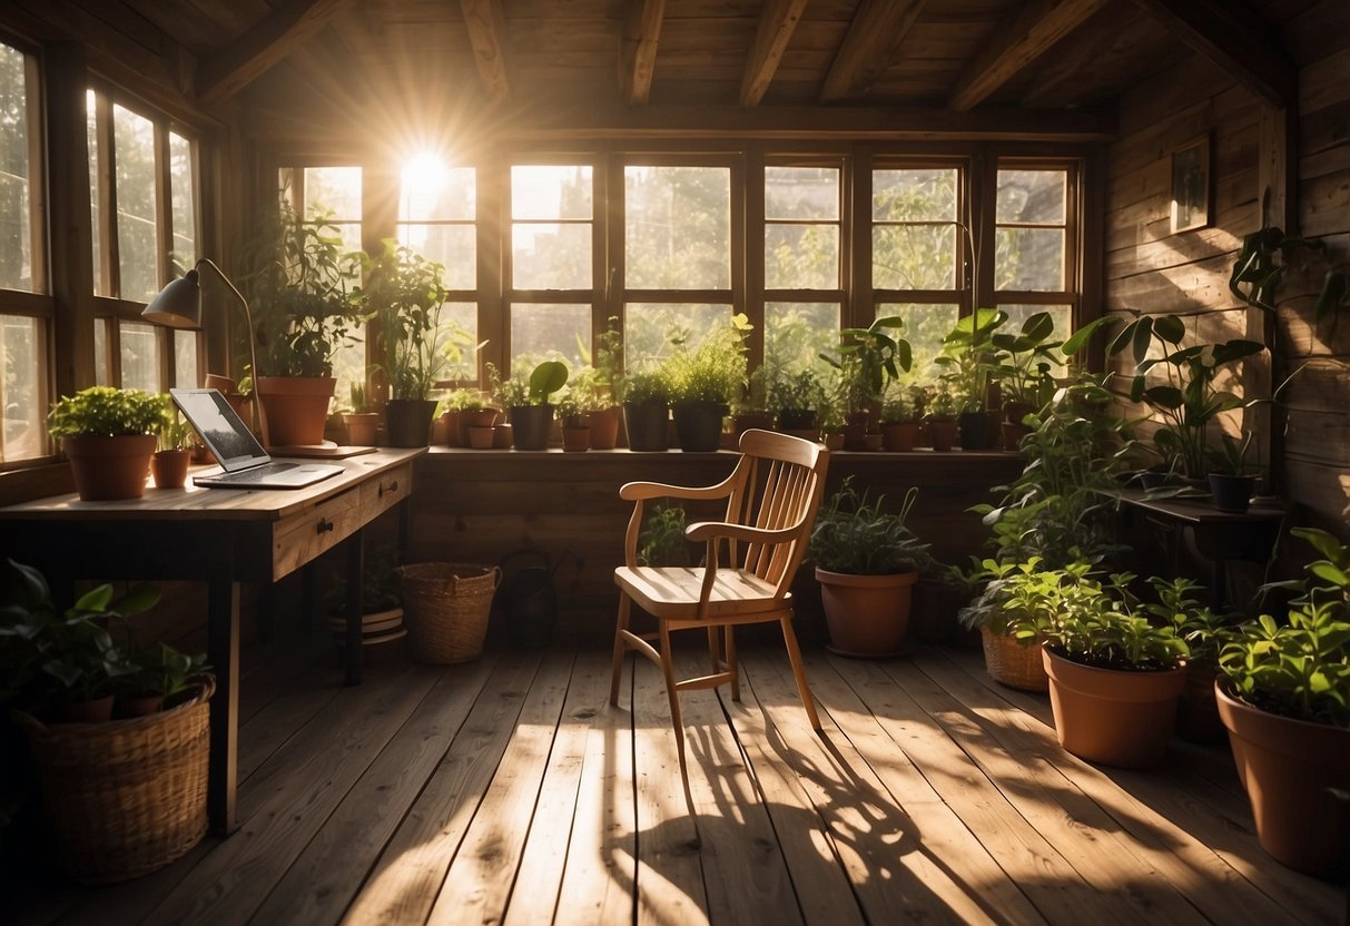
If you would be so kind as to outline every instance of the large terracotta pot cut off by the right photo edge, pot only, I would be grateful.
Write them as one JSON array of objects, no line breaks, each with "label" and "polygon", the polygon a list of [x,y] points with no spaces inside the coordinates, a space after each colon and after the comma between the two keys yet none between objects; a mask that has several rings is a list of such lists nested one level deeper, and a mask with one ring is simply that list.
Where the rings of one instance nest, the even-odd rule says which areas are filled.
[{"label": "large terracotta pot cut off by the right photo edge, pot only", "polygon": [[1214,697],[1261,848],[1307,875],[1341,868],[1350,846],[1350,805],[1327,788],[1350,782],[1350,730],[1257,710],[1222,684]]}]

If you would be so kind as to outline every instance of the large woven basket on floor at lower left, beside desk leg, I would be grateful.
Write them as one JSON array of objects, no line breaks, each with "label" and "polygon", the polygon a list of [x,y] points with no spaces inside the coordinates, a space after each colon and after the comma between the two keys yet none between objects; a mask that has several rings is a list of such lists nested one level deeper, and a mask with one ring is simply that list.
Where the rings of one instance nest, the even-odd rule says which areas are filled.
[{"label": "large woven basket on floor at lower left, beside desk leg", "polygon": [[148,875],[207,832],[209,675],[171,710],[103,724],[53,724],[14,711],[28,734],[62,867],[85,884]]}]

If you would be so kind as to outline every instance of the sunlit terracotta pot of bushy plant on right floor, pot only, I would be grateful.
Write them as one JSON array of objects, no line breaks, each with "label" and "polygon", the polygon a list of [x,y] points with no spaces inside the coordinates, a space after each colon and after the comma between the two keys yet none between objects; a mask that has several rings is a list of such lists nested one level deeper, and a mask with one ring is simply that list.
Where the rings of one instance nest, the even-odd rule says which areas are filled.
[{"label": "sunlit terracotta pot of bushy plant on right floor, pot only", "polygon": [[1149,768],[1166,756],[1185,667],[1130,672],[1081,665],[1042,648],[1060,745],[1079,759]]}]

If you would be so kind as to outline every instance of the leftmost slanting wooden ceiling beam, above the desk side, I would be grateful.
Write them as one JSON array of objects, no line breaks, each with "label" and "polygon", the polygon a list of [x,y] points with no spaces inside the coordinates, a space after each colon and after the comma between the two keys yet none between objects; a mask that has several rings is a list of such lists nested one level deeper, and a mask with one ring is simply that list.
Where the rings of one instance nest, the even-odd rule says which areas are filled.
[{"label": "leftmost slanting wooden ceiling beam, above the desk side", "polygon": [[286,0],[197,66],[197,101],[211,107],[248,86],[351,0]]}]

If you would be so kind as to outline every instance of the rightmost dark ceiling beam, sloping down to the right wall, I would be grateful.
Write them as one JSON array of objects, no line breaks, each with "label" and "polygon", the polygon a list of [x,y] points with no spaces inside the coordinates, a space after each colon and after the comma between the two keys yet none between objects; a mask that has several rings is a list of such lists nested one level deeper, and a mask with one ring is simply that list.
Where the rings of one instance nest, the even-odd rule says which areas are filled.
[{"label": "rightmost dark ceiling beam, sloping down to the right wall", "polygon": [[1293,107],[1299,69],[1254,12],[1243,18],[1228,0],[1134,0],[1241,86],[1276,108]]}]

